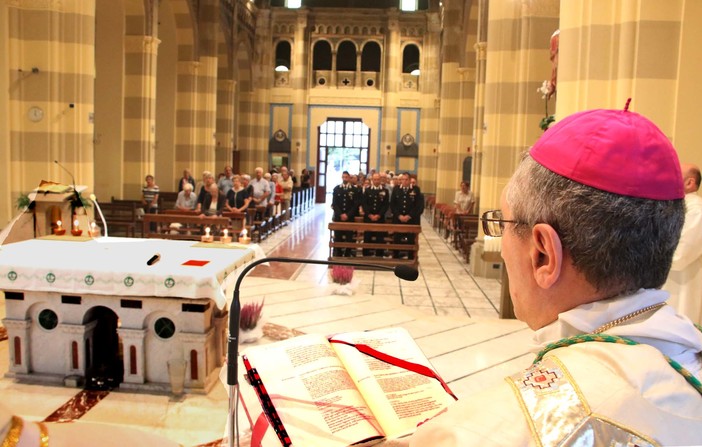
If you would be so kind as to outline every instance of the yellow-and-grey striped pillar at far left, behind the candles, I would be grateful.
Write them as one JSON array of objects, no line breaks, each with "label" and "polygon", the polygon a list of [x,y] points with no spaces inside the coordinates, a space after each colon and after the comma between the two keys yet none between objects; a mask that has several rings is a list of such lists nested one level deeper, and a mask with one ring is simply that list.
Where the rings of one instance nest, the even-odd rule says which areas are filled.
[{"label": "yellow-and-grey striped pillar at far left, behind the candles", "polygon": [[[14,214],[20,194],[41,180],[76,183],[93,188],[95,2],[5,0],[0,23],[2,70],[5,79],[5,191],[0,225]],[[28,116],[39,107],[38,121]]]}]

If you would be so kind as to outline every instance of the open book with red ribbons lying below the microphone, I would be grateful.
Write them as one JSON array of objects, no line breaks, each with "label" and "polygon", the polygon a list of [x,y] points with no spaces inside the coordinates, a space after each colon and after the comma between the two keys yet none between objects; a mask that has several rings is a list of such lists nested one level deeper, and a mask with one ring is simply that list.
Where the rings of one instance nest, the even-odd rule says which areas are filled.
[{"label": "open book with red ribbons lying below the microphone", "polygon": [[413,433],[455,400],[399,328],[303,335],[242,360],[244,408],[264,446],[372,445]]}]

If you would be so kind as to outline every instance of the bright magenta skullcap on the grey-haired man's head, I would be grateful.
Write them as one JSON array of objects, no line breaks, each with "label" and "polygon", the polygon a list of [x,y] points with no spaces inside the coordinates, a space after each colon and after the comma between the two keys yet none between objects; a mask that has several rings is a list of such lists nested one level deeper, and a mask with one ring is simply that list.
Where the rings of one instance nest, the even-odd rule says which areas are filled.
[{"label": "bright magenta skullcap on the grey-haired man's head", "polygon": [[685,196],[670,140],[626,108],[568,116],[549,128],[529,153],[550,171],[603,191],[653,200]]}]

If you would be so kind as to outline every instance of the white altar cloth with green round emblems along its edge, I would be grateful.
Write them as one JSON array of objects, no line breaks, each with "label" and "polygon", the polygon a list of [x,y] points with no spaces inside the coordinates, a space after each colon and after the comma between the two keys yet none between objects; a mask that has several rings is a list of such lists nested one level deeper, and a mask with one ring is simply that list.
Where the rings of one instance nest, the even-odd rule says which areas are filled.
[{"label": "white altar cloth with green round emblems along its edge", "polygon": [[[0,248],[0,290],[212,299],[227,303],[227,276],[261,256],[255,245],[70,236]],[[153,265],[147,261],[159,254]]]}]

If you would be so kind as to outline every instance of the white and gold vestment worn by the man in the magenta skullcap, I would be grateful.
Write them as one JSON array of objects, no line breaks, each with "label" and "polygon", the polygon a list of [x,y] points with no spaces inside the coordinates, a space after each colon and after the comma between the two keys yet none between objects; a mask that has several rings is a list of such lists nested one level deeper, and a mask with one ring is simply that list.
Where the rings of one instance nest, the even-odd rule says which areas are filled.
[{"label": "white and gold vestment worn by the man in the magenta skullcap", "polygon": [[[667,297],[664,291],[641,290],[564,312],[536,332],[537,349],[565,337],[592,333]],[[553,349],[543,363],[459,400],[420,426],[410,446],[598,446],[609,445],[613,438],[607,435],[616,430],[630,434],[629,439],[639,445],[702,445],[702,395],[663,356],[700,378],[702,333],[671,306],[605,333],[641,344],[592,341]],[[554,390],[571,387],[570,400],[549,392],[536,397],[520,394],[515,384],[528,385],[534,369],[540,366],[545,377],[550,370],[560,371],[562,380]],[[544,380],[537,376],[532,383]],[[598,424],[604,430],[598,431]]]}]

